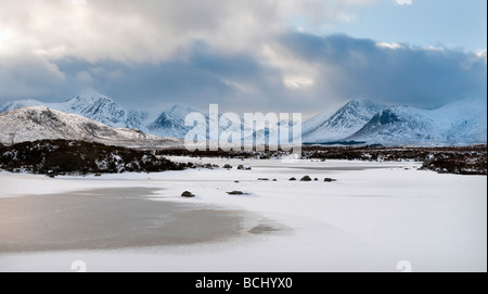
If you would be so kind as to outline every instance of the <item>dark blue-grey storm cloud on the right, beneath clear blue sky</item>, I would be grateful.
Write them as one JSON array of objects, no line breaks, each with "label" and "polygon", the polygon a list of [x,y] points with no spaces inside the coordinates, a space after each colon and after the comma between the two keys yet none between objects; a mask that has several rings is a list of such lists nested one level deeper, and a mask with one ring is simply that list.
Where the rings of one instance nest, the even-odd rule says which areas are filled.
[{"label": "dark blue-grey storm cloud on the right, beneath clear blue sky", "polygon": [[344,35],[291,33],[283,44],[297,59],[320,64],[322,91],[343,98],[436,106],[486,97],[486,56],[447,48],[381,44]]}]

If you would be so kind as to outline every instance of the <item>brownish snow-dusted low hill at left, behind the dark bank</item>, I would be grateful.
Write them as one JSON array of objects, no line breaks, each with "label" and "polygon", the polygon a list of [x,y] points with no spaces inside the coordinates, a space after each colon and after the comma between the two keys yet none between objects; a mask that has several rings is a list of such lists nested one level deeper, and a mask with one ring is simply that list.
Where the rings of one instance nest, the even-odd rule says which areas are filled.
[{"label": "brownish snow-dusted low hill at left, behind the dark bank", "polygon": [[112,128],[86,117],[46,106],[17,108],[0,114],[0,142],[10,144],[43,139],[93,141],[126,146],[166,146],[179,140],[159,138],[134,129]]}]

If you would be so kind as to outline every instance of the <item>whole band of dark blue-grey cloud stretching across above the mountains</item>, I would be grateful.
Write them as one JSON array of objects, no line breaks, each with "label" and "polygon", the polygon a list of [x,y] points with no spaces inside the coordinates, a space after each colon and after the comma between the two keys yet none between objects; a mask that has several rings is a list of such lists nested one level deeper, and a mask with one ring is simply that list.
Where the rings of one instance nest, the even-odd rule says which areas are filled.
[{"label": "whole band of dark blue-grey cloud stretching across above the mountains", "polygon": [[[219,103],[235,112],[317,113],[349,99],[433,107],[487,92],[486,55],[461,50],[303,33],[282,35],[271,46],[272,59],[221,51],[198,40],[184,57],[158,63],[75,57],[3,62],[0,76],[9,82],[2,84],[1,98],[59,101],[92,88],[137,108],[188,104],[205,110]],[[288,73],[309,75],[313,82],[286,87]],[[15,87],[10,85],[24,92],[11,94]]]}]

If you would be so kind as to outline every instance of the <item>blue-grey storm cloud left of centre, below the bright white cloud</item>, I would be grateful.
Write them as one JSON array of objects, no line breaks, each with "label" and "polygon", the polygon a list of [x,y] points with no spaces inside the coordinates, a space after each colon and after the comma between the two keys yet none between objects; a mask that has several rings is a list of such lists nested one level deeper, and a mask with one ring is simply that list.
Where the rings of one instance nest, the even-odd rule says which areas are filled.
[{"label": "blue-grey storm cloud left of centre, below the bright white cloud", "polygon": [[85,76],[87,88],[113,97],[121,104],[144,108],[174,103],[201,108],[208,107],[209,103],[241,107],[256,97],[243,93],[236,86],[239,82],[268,90],[277,84],[282,87],[280,80],[272,82],[272,78],[266,77],[277,73],[252,55],[219,53],[200,41],[183,61],[127,65],[72,59],[57,62],[56,66],[73,84]]}]

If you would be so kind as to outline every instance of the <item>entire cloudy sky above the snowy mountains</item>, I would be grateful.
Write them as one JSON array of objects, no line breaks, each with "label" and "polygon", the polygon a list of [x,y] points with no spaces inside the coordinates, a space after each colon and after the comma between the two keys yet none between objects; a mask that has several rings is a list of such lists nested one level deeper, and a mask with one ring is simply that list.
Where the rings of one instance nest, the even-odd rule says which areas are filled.
[{"label": "entire cloudy sky above the snowy mountains", "polygon": [[314,113],[487,95],[485,0],[1,4],[0,103],[94,89],[128,107]]}]

